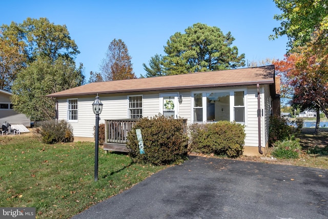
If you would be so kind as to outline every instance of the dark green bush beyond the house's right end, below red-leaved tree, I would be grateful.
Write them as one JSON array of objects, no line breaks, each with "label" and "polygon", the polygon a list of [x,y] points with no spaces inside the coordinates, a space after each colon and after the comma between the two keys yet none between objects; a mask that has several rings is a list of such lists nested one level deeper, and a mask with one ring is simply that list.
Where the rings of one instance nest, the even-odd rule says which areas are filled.
[{"label": "dark green bush beyond the house's right end, below red-leaved tree", "polygon": [[269,145],[272,146],[277,141],[289,140],[292,136],[297,136],[302,127],[302,118],[296,118],[296,121],[289,124],[286,118],[270,116]]}]

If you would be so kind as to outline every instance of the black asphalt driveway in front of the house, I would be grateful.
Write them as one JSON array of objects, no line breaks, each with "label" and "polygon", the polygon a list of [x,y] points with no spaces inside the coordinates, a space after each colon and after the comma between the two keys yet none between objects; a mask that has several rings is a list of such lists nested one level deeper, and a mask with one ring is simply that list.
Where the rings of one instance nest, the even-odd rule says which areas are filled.
[{"label": "black asphalt driveway in front of the house", "polygon": [[328,218],[328,170],[191,157],[73,218]]}]

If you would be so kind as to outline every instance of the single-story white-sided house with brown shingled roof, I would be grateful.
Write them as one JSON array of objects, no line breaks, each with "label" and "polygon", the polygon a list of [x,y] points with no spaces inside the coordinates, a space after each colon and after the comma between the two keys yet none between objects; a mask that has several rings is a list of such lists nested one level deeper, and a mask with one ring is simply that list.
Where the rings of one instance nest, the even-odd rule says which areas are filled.
[{"label": "single-story white-sided house with brown shingled roof", "polygon": [[188,124],[235,121],[245,127],[244,154],[259,155],[268,147],[270,115],[280,116],[280,81],[274,69],[271,65],[98,82],[48,97],[57,99],[57,118],[71,124],[74,141],[94,141],[92,103],[98,95],[104,104],[100,123],[159,113],[185,118]]}]

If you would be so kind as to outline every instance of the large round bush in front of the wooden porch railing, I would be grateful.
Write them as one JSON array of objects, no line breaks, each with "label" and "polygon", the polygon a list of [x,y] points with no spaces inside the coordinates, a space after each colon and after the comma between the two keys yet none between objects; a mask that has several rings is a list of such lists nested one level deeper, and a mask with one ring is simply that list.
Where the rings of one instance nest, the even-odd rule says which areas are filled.
[{"label": "large round bush in front of the wooden porch railing", "polygon": [[[134,162],[164,165],[179,163],[187,158],[188,136],[183,120],[155,116],[142,118],[128,133],[127,148]],[[144,154],[140,154],[136,129],[141,130]]]}]

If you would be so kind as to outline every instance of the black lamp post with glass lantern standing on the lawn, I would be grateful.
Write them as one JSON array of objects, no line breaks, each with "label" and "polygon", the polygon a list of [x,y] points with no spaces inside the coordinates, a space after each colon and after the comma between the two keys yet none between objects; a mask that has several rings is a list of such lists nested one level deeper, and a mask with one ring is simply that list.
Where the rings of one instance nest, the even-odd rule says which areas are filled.
[{"label": "black lamp post with glass lantern standing on the lawn", "polygon": [[96,114],[96,141],[95,141],[95,150],[94,150],[94,181],[98,180],[98,136],[99,136],[99,114],[103,110],[103,104],[101,103],[99,96],[96,96],[92,104],[93,113]]}]

